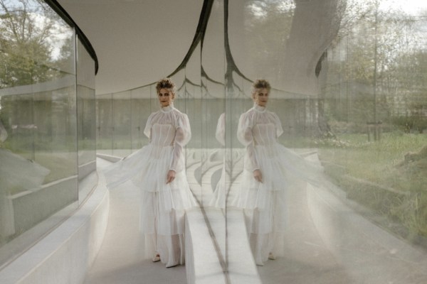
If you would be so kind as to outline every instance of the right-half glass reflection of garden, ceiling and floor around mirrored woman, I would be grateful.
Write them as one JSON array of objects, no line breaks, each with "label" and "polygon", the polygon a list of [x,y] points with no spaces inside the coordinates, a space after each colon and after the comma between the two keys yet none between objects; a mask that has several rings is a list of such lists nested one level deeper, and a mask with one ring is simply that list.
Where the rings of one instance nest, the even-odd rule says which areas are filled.
[{"label": "right-half glass reflection of garden, ceiling and floor around mirrored woman", "polygon": [[294,269],[337,283],[426,279],[401,265],[427,244],[425,11],[386,0],[228,5],[226,109],[251,108],[248,83],[267,78],[279,142],[321,163],[327,180],[290,187],[286,253],[258,269],[263,282],[279,267],[295,283],[311,280]]}]

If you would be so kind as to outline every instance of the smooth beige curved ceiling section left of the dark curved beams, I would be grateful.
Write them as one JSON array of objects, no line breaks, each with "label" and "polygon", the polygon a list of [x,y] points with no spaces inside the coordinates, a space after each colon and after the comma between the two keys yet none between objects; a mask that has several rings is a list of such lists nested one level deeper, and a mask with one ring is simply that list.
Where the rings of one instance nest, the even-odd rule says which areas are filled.
[{"label": "smooth beige curved ceiling section left of the dark curved beams", "polygon": [[121,92],[174,72],[188,52],[203,1],[58,0],[99,62],[96,93]]}]

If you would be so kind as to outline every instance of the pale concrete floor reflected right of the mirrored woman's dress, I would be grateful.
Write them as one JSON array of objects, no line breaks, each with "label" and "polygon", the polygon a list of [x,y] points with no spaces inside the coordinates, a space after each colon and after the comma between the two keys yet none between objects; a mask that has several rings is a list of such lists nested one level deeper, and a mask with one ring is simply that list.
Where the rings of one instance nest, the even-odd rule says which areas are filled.
[{"label": "pale concrete floor reflected right of the mirrored woman's dress", "polygon": [[326,185],[289,192],[286,254],[258,267],[263,283],[427,283],[425,249],[365,219]]}]

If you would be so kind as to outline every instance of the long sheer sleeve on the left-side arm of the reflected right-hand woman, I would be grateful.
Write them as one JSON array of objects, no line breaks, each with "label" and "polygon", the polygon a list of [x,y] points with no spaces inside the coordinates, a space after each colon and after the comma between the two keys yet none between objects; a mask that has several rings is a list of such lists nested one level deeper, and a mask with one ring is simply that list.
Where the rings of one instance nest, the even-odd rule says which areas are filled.
[{"label": "long sheer sleeve on the left-side arm of the reflected right-hand woman", "polygon": [[255,143],[252,134],[253,123],[248,114],[242,114],[238,121],[237,138],[243,146],[246,146],[246,153],[251,161],[251,170],[258,170],[258,160],[255,153]]}]

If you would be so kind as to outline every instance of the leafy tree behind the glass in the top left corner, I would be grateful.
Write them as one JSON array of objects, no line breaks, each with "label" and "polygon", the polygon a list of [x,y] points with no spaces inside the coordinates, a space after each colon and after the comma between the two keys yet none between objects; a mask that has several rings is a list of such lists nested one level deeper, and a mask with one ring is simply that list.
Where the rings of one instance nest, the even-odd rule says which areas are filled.
[{"label": "leafy tree behind the glass in the top left corner", "polygon": [[0,88],[58,75],[52,56],[58,16],[41,0],[0,0]]}]

